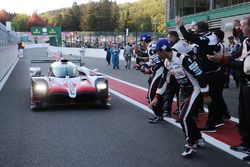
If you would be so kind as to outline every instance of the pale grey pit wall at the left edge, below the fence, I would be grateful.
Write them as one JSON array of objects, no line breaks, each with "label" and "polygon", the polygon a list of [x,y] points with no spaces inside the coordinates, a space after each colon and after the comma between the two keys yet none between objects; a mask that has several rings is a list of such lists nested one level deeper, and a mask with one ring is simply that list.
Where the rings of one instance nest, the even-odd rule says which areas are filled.
[{"label": "pale grey pit wall at the left edge, below the fence", "polygon": [[0,47],[0,83],[18,60],[17,45]]}]

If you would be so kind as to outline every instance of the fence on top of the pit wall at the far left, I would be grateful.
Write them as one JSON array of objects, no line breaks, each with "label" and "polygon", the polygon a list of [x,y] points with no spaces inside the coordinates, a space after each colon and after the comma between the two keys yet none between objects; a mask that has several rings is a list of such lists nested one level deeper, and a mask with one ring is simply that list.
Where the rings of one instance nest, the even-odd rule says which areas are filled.
[{"label": "fence on top of the pit wall at the far left", "polygon": [[0,48],[16,44],[17,42],[16,32],[8,31],[6,26],[0,23]]}]

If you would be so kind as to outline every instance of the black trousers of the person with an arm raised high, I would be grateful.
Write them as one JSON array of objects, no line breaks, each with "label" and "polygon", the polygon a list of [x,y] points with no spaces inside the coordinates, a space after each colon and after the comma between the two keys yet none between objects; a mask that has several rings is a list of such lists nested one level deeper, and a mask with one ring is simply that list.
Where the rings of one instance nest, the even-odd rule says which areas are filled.
[{"label": "black trousers of the person with an arm raised high", "polygon": [[223,115],[228,111],[227,105],[223,98],[223,88],[225,75],[222,71],[205,73],[206,81],[209,85],[209,95],[212,102],[208,105],[207,125],[214,127],[216,124],[223,122]]}]

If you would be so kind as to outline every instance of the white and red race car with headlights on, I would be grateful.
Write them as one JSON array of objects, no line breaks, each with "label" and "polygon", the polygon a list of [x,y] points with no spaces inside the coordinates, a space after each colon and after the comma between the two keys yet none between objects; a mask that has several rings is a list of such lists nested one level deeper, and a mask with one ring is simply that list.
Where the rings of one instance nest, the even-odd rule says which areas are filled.
[{"label": "white and red race car with headlights on", "polygon": [[53,62],[47,76],[40,67],[30,67],[31,109],[54,105],[99,104],[110,108],[107,77],[62,59]]}]

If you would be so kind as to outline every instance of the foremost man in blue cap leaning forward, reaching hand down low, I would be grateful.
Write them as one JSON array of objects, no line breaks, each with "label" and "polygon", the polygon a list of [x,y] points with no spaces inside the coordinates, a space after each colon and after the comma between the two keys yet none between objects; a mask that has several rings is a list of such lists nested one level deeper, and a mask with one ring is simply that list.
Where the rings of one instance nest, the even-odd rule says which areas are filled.
[{"label": "foremost man in blue cap leaning forward, reaching hand down low", "polygon": [[[206,104],[211,102],[208,94],[209,88],[202,70],[192,56],[172,51],[166,39],[159,40],[156,49],[158,50],[157,54],[164,60],[165,73],[163,77],[166,78],[167,73],[173,75],[180,84],[181,93],[188,97],[180,113],[180,122],[187,141],[186,150],[182,156],[190,157],[196,151],[199,140],[202,139],[200,130],[192,116],[193,113],[197,112],[197,103],[201,95],[203,95]],[[162,85],[165,84],[160,86]],[[149,104],[150,108],[157,104],[164,91],[164,87],[157,90],[154,100]]]}]

